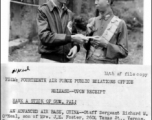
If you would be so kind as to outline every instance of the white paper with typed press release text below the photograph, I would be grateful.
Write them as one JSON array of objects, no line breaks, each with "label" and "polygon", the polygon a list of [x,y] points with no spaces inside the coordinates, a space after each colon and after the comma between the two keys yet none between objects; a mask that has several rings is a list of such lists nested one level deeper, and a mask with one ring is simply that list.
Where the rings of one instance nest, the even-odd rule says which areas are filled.
[{"label": "white paper with typed press release text below the photograph", "polygon": [[150,71],[150,66],[3,64],[1,120],[151,120]]}]

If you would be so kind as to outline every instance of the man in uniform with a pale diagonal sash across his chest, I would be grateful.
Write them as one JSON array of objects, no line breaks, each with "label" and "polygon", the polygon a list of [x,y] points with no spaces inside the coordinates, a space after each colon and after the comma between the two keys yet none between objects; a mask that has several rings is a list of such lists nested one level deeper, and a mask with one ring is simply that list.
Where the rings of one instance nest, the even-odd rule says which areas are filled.
[{"label": "man in uniform with a pale diagonal sash across his chest", "polygon": [[[88,32],[94,36],[86,46],[87,63],[118,64],[128,55],[127,27],[113,14],[112,0],[95,0],[98,16],[89,20]],[[88,47],[89,46],[89,47]]]}]

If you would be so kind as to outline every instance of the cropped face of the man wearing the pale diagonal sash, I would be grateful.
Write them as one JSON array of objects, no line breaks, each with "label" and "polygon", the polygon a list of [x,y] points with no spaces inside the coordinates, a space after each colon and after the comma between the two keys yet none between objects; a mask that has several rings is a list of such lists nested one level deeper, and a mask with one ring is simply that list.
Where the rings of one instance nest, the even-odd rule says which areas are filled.
[{"label": "cropped face of the man wearing the pale diagonal sash", "polygon": [[95,6],[99,11],[104,11],[108,4],[108,0],[95,0]]}]

